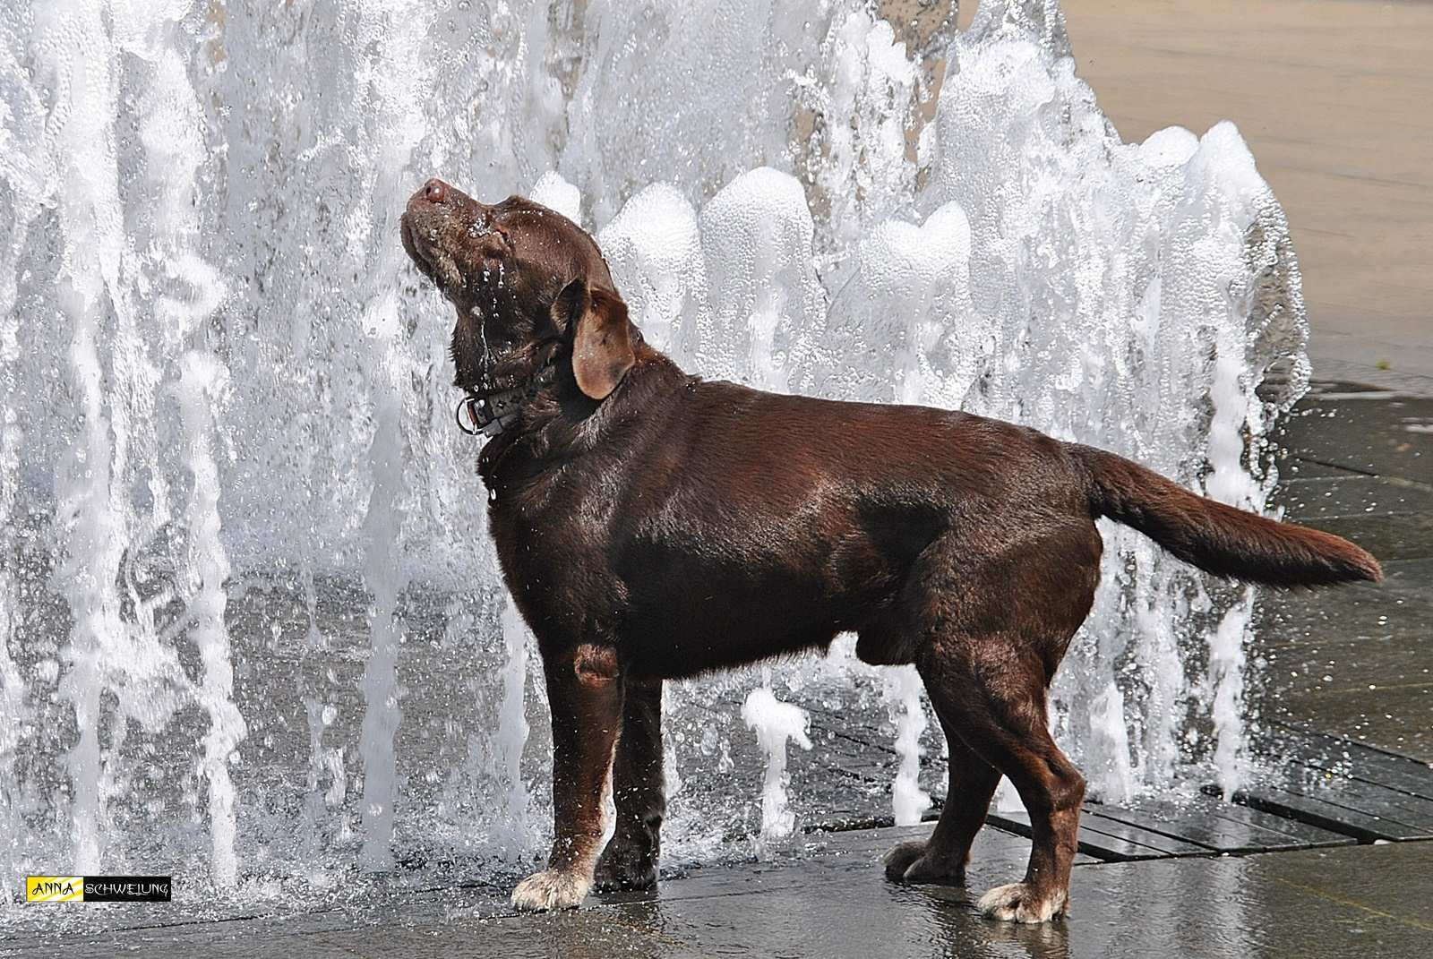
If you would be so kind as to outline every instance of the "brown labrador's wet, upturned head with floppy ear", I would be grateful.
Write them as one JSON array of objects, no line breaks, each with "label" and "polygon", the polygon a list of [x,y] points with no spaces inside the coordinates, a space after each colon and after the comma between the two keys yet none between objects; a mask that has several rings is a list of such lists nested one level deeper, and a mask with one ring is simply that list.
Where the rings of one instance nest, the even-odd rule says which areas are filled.
[{"label": "brown labrador's wet, upturned head with floppy ear", "polygon": [[635,363],[639,334],[602,251],[562,214],[522,196],[489,206],[430,179],[401,229],[418,269],[457,307],[461,388],[512,388],[570,357],[577,387],[600,400]]}]

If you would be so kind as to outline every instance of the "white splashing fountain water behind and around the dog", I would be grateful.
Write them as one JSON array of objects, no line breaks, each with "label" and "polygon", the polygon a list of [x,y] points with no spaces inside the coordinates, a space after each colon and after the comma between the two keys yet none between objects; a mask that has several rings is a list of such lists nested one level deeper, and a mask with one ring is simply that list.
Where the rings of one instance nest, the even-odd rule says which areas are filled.
[{"label": "white splashing fountain water behind and around the dog", "polygon": [[[999,416],[1260,509],[1307,330],[1237,130],[1121,142],[1053,0],[950,23],[926,123],[924,53],[858,0],[0,10],[0,883],[327,889],[549,839],[451,317],[396,237],[433,173],[593,229],[686,368]],[[1234,784],[1252,595],[1103,533],[1062,745],[1106,798]],[[711,691],[752,684],[674,684],[671,754],[729,761]],[[668,849],[757,801],[672,784]]]}]

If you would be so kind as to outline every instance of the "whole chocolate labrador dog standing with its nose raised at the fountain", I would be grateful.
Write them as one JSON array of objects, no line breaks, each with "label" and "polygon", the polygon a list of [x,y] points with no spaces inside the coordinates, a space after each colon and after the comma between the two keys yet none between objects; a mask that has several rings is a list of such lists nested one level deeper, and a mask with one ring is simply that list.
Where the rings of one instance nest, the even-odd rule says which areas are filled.
[{"label": "whole chocolate labrador dog standing with its nose raised at the fountain", "polygon": [[1050,738],[1046,688],[1095,596],[1095,519],[1218,576],[1381,578],[1337,536],[1089,446],[684,373],[628,320],[592,238],[527,199],[489,206],[428,181],[403,244],[457,307],[459,416],[490,436],[493,539],[552,704],[556,839],[519,909],[656,882],[663,679],[853,631],[866,662],[916,664],[950,744],[940,821],[891,850],[887,876],[963,884],[1003,774],[1030,813],[1030,862],[979,907],[1043,922],[1065,910],[1085,794]]}]

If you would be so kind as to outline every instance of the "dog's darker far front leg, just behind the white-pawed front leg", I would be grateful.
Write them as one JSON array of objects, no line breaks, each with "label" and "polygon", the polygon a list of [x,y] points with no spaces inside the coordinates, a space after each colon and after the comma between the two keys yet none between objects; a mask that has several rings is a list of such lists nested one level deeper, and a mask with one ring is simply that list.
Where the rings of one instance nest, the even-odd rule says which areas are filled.
[{"label": "dog's darker far front leg, just behind the white-pawed front leg", "polygon": [[666,793],[662,781],[662,681],[623,682],[622,735],[612,761],[616,831],[598,860],[598,889],[656,884]]}]

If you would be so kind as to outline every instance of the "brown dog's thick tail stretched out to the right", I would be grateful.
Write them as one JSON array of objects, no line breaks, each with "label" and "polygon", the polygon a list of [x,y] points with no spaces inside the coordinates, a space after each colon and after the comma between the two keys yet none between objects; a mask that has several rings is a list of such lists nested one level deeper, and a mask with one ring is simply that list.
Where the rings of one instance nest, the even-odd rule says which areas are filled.
[{"label": "brown dog's thick tail stretched out to the right", "polygon": [[1205,572],[1271,586],[1379,582],[1379,560],[1347,539],[1197,496],[1138,463],[1072,444],[1091,476],[1091,512],[1132,526]]}]

